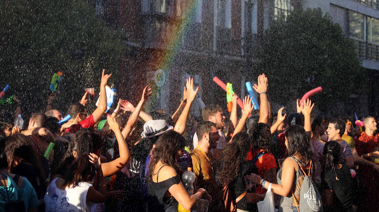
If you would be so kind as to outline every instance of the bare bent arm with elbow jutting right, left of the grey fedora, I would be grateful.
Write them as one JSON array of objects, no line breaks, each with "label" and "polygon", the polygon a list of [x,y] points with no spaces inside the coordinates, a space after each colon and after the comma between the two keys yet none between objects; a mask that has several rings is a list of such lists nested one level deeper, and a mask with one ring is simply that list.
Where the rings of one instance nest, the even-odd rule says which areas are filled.
[{"label": "bare bent arm with elbow jutting right, left of the grey fedora", "polygon": [[117,124],[116,119],[114,119],[109,114],[107,115],[106,119],[108,121],[110,129],[116,135],[116,140],[117,140],[117,144],[119,146],[119,152],[120,152],[119,158],[112,160],[111,162],[101,164],[104,177],[109,177],[109,176],[112,176],[113,174],[116,174],[125,166],[125,163],[129,159],[129,148],[125,142],[124,136],[122,135],[120,131],[120,126],[119,124]]}]

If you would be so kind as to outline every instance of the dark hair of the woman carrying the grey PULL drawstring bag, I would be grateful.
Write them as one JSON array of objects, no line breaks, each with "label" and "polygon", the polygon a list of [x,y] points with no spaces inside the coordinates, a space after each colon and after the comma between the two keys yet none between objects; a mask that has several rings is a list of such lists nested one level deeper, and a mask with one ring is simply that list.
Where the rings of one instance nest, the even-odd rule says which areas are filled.
[{"label": "dark hair of the woman carrying the grey PULL drawstring bag", "polygon": [[288,141],[288,155],[298,156],[306,162],[312,158],[312,150],[304,127],[299,125],[290,126],[285,132]]}]

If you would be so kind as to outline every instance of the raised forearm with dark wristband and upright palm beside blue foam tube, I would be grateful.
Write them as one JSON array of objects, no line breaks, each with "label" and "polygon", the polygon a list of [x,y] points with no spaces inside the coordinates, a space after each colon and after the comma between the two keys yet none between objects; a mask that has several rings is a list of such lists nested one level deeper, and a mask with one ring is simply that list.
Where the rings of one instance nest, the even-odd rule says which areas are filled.
[{"label": "raised forearm with dark wristband and upright palm beside blue foam tube", "polygon": [[265,74],[258,76],[258,85],[254,84],[254,90],[259,94],[260,108],[259,108],[259,120],[258,122],[267,123],[269,118],[270,106],[267,96],[267,77]]}]

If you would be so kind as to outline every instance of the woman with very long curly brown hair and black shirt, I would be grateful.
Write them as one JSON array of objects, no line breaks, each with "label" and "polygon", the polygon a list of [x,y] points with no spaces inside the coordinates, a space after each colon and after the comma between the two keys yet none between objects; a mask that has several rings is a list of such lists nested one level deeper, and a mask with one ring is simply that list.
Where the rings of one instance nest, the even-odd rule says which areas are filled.
[{"label": "woman with very long curly brown hair and black shirt", "polygon": [[[249,192],[249,186],[245,184],[244,176],[258,173],[254,161],[246,160],[250,149],[249,136],[240,132],[234,135],[232,142],[227,143],[222,152],[222,168],[218,181],[222,186],[229,185],[231,199],[240,197],[236,203],[237,210],[257,211],[257,202],[265,195]],[[247,190],[247,193],[244,193]],[[243,195],[241,195],[243,194]]]}]

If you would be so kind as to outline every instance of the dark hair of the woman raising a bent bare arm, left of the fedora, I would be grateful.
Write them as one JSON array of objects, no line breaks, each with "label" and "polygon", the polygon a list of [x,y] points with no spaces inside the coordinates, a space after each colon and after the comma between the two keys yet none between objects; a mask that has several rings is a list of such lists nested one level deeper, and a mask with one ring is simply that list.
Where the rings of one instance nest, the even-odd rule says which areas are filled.
[{"label": "dark hair of the woman raising a bent bare arm, left of the fedora", "polygon": [[103,146],[103,140],[96,132],[82,130],[77,133],[77,155],[88,155],[98,151]]}]

